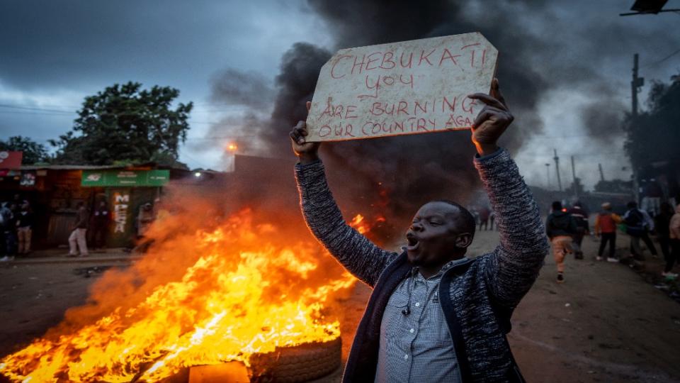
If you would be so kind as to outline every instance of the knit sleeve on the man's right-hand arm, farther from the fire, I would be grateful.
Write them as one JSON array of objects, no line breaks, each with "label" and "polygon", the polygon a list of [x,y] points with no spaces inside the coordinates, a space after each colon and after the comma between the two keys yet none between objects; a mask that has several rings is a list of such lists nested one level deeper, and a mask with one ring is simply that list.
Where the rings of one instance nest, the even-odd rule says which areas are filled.
[{"label": "knit sleeve on the man's right-hand arm, farther from the fire", "polygon": [[489,201],[497,213],[500,245],[487,260],[489,291],[513,309],[529,291],[548,253],[538,206],[509,153],[498,150],[475,159]]}]

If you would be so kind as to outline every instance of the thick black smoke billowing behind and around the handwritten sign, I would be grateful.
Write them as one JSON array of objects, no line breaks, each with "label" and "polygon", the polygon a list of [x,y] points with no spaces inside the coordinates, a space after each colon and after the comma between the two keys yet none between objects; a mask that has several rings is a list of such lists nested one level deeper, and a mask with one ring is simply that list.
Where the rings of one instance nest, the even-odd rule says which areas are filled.
[{"label": "thick black smoke billowing behind and around the handwritten sign", "polygon": [[[585,123],[587,131],[580,133],[604,132],[608,121],[621,121],[616,87],[608,84],[602,68],[621,56],[616,35],[624,34],[625,24],[616,14],[576,20],[577,26],[562,20],[568,6],[533,0],[308,0],[307,5],[326,24],[335,45],[329,51],[296,43],[283,55],[273,113],[259,135],[268,155],[291,157],[288,132],[305,119],[305,101],[312,99],[319,69],[335,50],[474,31],[499,50],[497,77],[516,116],[500,144],[514,154],[528,149],[531,136],[543,131],[538,109],[551,91],[583,89],[591,99],[572,111]],[[645,42],[642,35],[635,39]],[[557,103],[553,107],[561,111]],[[616,135],[621,129],[610,127],[597,135],[603,139],[596,138],[595,145]],[[365,212],[368,206],[397,221],[409,219],[430,199],[468,203],[479,187],[474,154],[467,131],[322,145],[327,173],[346,211]]]}]

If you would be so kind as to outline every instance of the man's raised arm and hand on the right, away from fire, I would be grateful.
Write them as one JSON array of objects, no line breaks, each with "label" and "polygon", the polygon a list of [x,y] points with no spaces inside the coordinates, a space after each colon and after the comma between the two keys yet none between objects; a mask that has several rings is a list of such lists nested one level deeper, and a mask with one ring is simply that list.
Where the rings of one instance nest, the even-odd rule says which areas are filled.
[{"label": "man's raised arm and hand on the right, away from fire", "polygon": [[496,212],[501,243],[489,257],[486,269],[489,289],[507,309],[514,309],[538,277],[548,253],[545,228],[538,206],[510,154],[496,145],[514,117],[494,79],[491,96],[474,94],[486,104],[475,120],[472,141],[480,157],[475,167]]}]

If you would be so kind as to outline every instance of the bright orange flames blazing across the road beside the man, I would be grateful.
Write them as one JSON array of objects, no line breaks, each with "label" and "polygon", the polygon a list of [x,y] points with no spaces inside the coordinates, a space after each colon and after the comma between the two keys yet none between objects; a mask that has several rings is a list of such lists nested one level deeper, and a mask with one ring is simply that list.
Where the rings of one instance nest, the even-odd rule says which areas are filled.
[{"label": "bright orange flames blazing across the road beside the man", "polygon": [[[365,232],[362,221],[353,223]],[[328,306],[356,279],[322,265],[329,255],[317,243],[295,243],[276,226],[255,223],[249,210],[197,231],[188,243],[154,245],[140,262],[193,251],[197,260],[181,279],[159,283],[138,303],[89,324],[35,340],[1,360],[0,373],[21,382],[156,382],[183,367],[248,365],[251,355],[276,346],[339,337]]]}]

